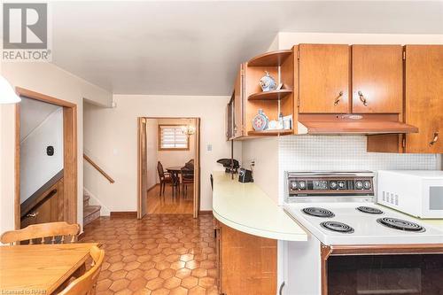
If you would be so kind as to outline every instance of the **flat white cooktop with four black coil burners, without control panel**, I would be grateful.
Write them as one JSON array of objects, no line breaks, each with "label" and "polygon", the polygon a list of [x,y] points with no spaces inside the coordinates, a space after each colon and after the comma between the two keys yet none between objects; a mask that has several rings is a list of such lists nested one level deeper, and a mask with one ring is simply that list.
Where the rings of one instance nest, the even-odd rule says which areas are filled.
[{"label": "flat white cooktop with four black coil burners, without control panel", "polygon": [[292,203],[284,210],[323,245],[443,244],[443,230],[369,202]]}]

